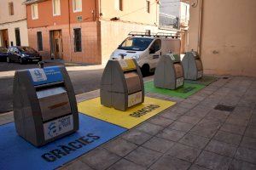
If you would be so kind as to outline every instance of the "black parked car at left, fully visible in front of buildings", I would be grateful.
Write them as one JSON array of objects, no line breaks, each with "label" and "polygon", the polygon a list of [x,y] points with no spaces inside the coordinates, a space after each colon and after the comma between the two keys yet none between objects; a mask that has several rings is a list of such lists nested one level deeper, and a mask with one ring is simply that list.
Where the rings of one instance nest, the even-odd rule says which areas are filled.
[{"label": "black parked car at left, fully visible in front of buildings", "polygon": [[42,60],[42,57],[38,52],[26,46],[14,46],[8,50],[7,62],[19,62],[20,64],[26,64],[28,62],[38,62]]}]

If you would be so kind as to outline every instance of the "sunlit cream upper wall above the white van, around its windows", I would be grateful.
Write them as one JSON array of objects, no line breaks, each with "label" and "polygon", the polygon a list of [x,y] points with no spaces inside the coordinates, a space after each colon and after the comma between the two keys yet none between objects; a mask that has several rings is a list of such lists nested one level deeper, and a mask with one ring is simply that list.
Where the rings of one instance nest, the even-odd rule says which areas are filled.
[{"label": "sunlit cream upper wall above the white van, around its windows", "polygon": [[119,17],[119,20],[154,25],[159,23],[159,4],[155,0],[150,1],[150,13],[146,11],[146,0],[123,0],[123,11],[119,11],[119,0],[101,0],[100,13],[103,20]]}]

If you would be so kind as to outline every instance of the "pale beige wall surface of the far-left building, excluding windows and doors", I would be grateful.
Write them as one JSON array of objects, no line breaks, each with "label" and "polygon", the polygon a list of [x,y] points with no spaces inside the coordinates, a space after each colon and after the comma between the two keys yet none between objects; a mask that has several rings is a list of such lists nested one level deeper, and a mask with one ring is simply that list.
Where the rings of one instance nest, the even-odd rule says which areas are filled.
[{"label": "pale beige wall surface of the far-left building, excluding windows and doors", "polygon": [[[14,3],[14,15],[9,15],[9,3]],[[24,0],[1,0],[0,3],[0,31],[8,29],[9,45],[14,42],[15,28],[20,28],[20,43],[23,46],[28,45],[27,24],[26,24],[26,6],[22,3]],[[3,46],[3,40],[0,36],[0,46]]]}]

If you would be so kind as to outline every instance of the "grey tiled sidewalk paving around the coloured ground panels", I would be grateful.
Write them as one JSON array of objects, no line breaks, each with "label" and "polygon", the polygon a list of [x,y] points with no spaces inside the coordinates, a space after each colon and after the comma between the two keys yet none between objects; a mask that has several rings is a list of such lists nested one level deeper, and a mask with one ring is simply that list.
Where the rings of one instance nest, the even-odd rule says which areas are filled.
[{"label": "grey tiled sidewalk paving around the coloured ground panels", "polygon": [[256,78],[220,78],[188,99],[146,95],[177,105],[60,169],[256,169]]}]

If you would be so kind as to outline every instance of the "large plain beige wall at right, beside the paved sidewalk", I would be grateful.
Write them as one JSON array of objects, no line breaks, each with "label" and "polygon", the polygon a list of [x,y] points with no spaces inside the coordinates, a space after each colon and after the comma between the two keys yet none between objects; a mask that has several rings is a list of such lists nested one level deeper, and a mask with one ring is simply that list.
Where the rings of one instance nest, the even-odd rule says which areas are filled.
[{"label": "large plain beige wall at right, beside the paved sidewalk", "polygon": [[256,77],[255,8],[253,0],[204,0],[200,38],[200,4],[190,7],[189,49],[201,51],[206,73]]}]

